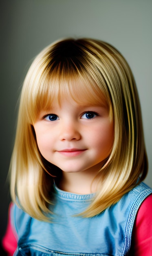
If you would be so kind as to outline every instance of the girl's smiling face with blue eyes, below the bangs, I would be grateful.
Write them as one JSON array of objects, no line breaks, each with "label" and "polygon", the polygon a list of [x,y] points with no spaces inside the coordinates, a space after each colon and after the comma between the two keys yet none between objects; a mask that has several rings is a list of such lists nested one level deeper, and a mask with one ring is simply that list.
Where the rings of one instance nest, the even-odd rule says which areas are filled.
[{"label": "girl's smiling face with blue eyes, below the bangs", "polygon": [[69,96],[40,112],[33,126],[43,157],[66,173],[97,174],[112,149],[113,124],[104,103],[79,105]]}]

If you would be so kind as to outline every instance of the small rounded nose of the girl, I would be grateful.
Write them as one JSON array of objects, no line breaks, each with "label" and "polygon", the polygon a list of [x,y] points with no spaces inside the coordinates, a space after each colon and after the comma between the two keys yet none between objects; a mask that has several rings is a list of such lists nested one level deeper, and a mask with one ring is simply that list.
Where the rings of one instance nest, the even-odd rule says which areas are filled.
[{"label": "small rounded nose of the girl", "polygon": [[73,123],[62,124],[59,139],[64,141],[79,140],[81,138],[79,128]]}]

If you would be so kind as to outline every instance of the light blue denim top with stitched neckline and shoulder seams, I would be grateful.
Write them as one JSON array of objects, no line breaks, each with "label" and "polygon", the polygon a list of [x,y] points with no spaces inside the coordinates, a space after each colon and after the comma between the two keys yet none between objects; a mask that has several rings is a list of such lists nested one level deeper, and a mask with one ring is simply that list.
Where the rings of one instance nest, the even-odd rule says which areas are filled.
[{"label": "light blue denim top with stitched neckline and shoulder seams", "polygon": [[128,255],[137,211],[150,193],[152,189],[141,183],[103,213],[82,218],[73,215],[86,209],[94,194],[77,195],[55,187],[53,223],[35,220],[14,205],[11,217],[18,234],[14,255]]}]

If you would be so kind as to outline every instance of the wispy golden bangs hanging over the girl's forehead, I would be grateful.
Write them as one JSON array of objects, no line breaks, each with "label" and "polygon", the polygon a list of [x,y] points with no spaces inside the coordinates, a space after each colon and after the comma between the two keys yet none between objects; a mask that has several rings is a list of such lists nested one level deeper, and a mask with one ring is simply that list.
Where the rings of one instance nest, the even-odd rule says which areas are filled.
[{"label": "wispy golden bangs hanging over the girl's forehead", "polygon": [[84,75],[71,77],[68,75],[67,77],[55,74],[41,83],[37,90],[33,106],[34,119],[40,111],[47,111],[53,106],[61,106],[62,101],[65,99],[68,101],[69,98],[81,106],[108,106],[110,108],[108,99],[101,88],[91,81],[90,77],[84,77]]}]

